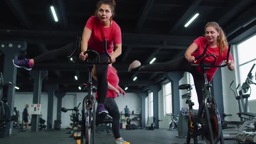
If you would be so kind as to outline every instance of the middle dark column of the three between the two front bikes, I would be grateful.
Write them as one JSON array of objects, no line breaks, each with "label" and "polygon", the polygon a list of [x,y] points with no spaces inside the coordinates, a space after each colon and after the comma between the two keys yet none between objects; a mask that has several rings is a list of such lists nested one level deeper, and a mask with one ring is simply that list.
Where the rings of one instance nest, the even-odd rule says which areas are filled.
[{"label": "middle dark column of the three between the two front bikes", "polygon": [[154,116],[153,121],[156,124],[156,128],[159,128],[159,117],[158,117],[158,92],[161,90],[161,85],[149,85],[148,86],[151,92],[153,92],[153,109],[154,109]]}]

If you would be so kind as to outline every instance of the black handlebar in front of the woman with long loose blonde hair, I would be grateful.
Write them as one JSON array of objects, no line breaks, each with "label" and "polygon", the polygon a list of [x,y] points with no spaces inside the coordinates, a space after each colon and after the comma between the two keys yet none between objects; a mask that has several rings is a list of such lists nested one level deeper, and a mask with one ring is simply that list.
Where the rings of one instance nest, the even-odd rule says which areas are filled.
[{"label": "black handlebar in front of the woman with long loose blonde hair", "polygon": [[[197,59],[200,59],[201,57],[203,57],[203,58],[201,59],[201,61],[200,61],[200,64],[192,64],[192,63],[191,63],[191,65],[192,65],[192,66],[203,66],[203,60],[204,60],[205,58],[211,56],[211,57],[214,58],[213,64],[212,64],[212,65],[207,65],[207,66],[209,66],[209,67],[224,67],[224,66],[226,66],[226,64],[224,64],[224,65],[215,65],[215,63],[216,63],[216,61],[217,61],[217,57],[216,57],[215,55],[213,55],[213,54],[209,54],[209,55],[204,56],[204,55],[206,54],[207,49],[208,49],[208,45],[209,45],[209,44],[207,43],[206,46],[205,46],[205,48],[204,48],[204,50],[203,50],[203,53],[195,58],[195,60],[197,60]],[[229,46],[228,46],[227,55],[226,55],[226,62],[229,61],[230,49],[231,49],[231,44],[229,44]]]}]

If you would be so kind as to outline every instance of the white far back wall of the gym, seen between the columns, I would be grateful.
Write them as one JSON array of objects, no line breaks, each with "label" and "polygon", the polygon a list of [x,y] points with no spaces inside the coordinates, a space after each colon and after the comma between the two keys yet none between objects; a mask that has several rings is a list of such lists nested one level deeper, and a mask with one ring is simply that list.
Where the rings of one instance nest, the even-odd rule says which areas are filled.
[{"label": "white far back wall of the gym, seen between the columns", "polygon": [[[79,110],[81,113],[82,109],[82,100],[87,95],[87,93],[67,93],[64,98],[62,98],[62,107],[71,109],[76,106],[78,106],[79,102],[81,102],[81,105],[79,106]],[[93,93],[95,95],[95,93]],[[54,97],[53,99],[54,107],[53,107],[53,122],[56,120],[56,115],[57,115],[57,98]],[[141,99],[138,97],[137,94],[135,93],[126,93],[125,97],[120,96],[115,99],[119,111],[122,111],[125,108],[125,105],[128,105],[128,108],[130,108],[131,111],[135,108],[135,111],[139,111],[141,108]],[[22,118],[22,111],[25,108],[26,104],[32,104],[33,102],[33,93],[32,92],[16,92],[14,95],[14,107],[17,108],[18,111],[20,111],[20,122]],[[42,113],[42,118],[47,121],[47,109],[48,109],[48,94],[47,93],[42,93],[41,94],[41,113]],[[70,114],[72,111],[67,111],[66,113],[62,112],[61,114],[61,127],[62,128],[67,128],[70,127],[69,123],[70,121]],[[132,117],[131,117],[132,118]],[[31,120],[29,120],[31,121]],[[46,124],[46,123],[45,123]]]}]

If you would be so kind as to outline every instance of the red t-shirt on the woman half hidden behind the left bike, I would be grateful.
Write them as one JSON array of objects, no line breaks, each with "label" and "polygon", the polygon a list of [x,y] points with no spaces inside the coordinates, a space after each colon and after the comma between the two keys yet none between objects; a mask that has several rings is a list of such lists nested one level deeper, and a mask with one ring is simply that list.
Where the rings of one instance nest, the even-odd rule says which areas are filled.
[{"label": "red t-shirt on the woman half hidden behind the left bike", "polygon": [[[116,70],[112,67],[108,65],[108,82],[114,86],[115,88],[117,88],[118,83],[119,83],[119,78],[118,75],[116,73]],[[96,98],[98,98],[98,94],[96,92]],[[107,93],[107,98],[116,98],[116,93],[114,90],[108,89],[108,93]]]}]

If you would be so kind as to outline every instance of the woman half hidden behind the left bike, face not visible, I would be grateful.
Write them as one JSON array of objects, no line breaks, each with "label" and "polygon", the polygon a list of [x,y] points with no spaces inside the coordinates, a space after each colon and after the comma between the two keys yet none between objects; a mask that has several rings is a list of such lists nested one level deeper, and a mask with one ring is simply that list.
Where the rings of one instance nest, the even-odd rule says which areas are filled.
[{"label": "woman half hidden behind the left bike, face not visible", "polygon": [[[120,141],[120,139],[122,140],[119,132],[120,112],[114,98],[116,98],[116,96],[119,96],[120,93],[123,96],[125,96],[125,91],[122,88],[120,88],[118,85],[119,78],[118,78],[116,69],[112,67],[112,64],[108,65],[107,75],[108,75],[108,94],[107,94],[107,98],[105,99],[105,108],[108,110],[108,114],[113,118],[112,131],[115,136],[115,140],[117,141],[117,144],[119,144],[120,142],[118,143],[118,141]],[[95,68],[92,69],[92,77],[95,80],[98,80]],[[98,89],[96,92],[96,100],[98,102]],[[101,117],[98,115],[96,117],[96,125],[100,124],[101,121],[103,121],[103,119],[104,117]],[[124,140],[122,140],[122,142],[125,143]]]}]

